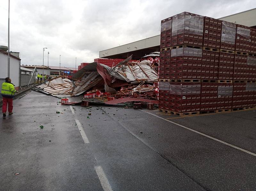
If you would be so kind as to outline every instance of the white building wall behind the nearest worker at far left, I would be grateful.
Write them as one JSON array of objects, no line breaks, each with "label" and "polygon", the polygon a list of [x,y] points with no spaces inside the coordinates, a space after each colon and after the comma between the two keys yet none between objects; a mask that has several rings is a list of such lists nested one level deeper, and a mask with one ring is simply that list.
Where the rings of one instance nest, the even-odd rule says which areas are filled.
[{"label": "white building wall behind the nearest worker at far left", "polygon": [[[3,79],[7,77],[7,73],[8,73],[7,63],[8,63],[8,55],[0,53],[0,67],[1,67],[0,78],[2,79],[1,82],[3,82],[4,81]],[[19,71],[20,71],[19,59],[10,57],[10,78],[12,79],[12,84],[14,84],[14,86],[16,87],[15,89],[17,90],[20,86]]]}]

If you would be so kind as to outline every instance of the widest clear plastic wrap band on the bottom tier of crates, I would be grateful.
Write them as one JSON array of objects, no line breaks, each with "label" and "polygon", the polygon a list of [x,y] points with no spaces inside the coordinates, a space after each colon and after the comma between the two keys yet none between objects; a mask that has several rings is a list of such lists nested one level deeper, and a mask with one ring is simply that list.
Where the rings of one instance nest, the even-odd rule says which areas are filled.
[{"label": "widest clear plastic wrap band on the bottom tier of crates", "polygon": [[196,85],[170,85],[170,93],[177,95],[191,95],[201,93],[201,84]]}]

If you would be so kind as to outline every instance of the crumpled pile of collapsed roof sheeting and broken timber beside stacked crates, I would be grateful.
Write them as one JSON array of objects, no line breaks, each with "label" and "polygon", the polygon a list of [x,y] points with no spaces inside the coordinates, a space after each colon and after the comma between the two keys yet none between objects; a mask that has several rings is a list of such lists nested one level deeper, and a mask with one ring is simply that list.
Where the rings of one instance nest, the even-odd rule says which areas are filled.
[{"label": "crumpled pile of collapsed roof sheeting and broken timber beside stacked crates", "polygon": [[152,97],[152,93],[146,92],[153,92],[157,88],[158,63],[156,62],[158,61],[152,62],[152,59],[148,59],[129,62],[131,59],[132,56],[112,68],[92,62],[78,70],[71,81],[57,77],[49,80],[39,89],[55,97],[78,96],[86,91],[96,90],[108,92],[108,95],[121,93],[127,97],[136,93],[145,93],[143,96]]}]

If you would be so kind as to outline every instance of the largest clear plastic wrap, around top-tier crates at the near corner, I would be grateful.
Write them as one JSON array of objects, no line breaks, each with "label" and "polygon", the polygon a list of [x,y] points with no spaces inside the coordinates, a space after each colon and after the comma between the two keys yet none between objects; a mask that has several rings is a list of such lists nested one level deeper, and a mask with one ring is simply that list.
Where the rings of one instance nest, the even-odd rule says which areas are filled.
[{"label": "largest clear plastic wrap, around top-tier crates at the near corner", "polygon": [[172,36],[180,33],[203,35],[204,17],[188,12],[172,17]]}]

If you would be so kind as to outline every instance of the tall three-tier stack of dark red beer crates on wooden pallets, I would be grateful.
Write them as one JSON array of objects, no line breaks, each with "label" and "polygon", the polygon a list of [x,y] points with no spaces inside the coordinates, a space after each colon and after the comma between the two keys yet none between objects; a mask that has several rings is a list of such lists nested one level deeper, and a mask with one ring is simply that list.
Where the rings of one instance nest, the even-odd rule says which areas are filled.
[{"label": "tall three-tier stack of dark red beer crates on wooden pallets", "polygon": [[256,106],[256,30],[183,12],[161,21],[160,36],[159,109],[183,115]]}]

